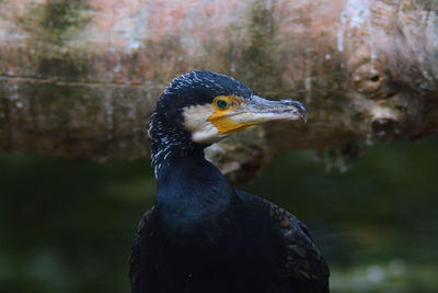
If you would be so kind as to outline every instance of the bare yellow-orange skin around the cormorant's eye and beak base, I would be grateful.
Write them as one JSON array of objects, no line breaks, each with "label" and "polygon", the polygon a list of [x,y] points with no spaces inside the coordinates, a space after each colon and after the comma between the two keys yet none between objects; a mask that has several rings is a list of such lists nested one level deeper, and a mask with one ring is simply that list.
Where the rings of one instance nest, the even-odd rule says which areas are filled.
[{"label": "bare yellow-orange skin around the cormorant's eye and beak base", "polygon": [[218,95],[212,101],[214,113],[207,121],[215,125],[219,134],[229,134],[258,124],[256,122],[238,123],[230,117],[230,113],[240,109],[242,105],[243,100],[239,97]]}]

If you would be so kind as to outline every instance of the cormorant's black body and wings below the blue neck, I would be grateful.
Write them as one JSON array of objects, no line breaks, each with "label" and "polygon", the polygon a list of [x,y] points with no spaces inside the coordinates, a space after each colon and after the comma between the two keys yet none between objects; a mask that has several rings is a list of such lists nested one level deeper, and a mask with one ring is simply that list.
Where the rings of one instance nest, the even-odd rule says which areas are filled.
[{"label": "cormorant's black body and wings below the blue neck", "polygon": [[132,247],[135,293],[328,292],[327,266],[306,226],[267,201],[238,191],[212,238],[170,236],[154,213],[143,216]]}]

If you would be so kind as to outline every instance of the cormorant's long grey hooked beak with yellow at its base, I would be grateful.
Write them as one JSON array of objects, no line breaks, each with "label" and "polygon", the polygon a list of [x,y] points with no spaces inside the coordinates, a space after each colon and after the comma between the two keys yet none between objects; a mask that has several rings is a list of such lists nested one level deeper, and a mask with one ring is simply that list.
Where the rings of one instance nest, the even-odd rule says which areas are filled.
[{"label": "cormorant's long grey hooked beak with yellow at its base", "polygon": [[266,100],[258,95],[244,99],[239,106],[211,121],[219,134],[229,134],[251,125],[276,120],[307,120],[306,108],[298,101]]}]

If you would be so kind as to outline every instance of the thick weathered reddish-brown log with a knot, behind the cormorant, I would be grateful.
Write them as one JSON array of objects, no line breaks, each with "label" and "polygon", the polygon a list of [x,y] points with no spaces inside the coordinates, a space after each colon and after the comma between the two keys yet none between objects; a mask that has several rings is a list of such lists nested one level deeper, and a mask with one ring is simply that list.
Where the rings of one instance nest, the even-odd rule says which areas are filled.
[{"label": "thick weathered reddish-brown log with a knot, behind the cormorant", "polygon": [[436,134],[437,11],[427,0],[0,1],[0,150],[147,157],[160,92],[193,69],[308,108],[307,124],[209,149],[234,179],[288,149],[349,156],[361,142]]}]

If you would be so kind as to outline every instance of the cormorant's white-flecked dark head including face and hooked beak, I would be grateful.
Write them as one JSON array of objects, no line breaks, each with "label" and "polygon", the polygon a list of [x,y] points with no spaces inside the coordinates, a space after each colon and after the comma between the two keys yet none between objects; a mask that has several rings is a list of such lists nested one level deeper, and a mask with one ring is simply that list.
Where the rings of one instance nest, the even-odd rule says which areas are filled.
[{"label": "cormorant's white-flecked dark head including face and hooked beak", "polygon": [[275,120],[306,120],[306,109],[297,101],[263,99],[224,75],[193,71],[175,78],[164,90],[149,136],[157,154],[166,144],[205,147],[233,132]]}]

